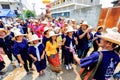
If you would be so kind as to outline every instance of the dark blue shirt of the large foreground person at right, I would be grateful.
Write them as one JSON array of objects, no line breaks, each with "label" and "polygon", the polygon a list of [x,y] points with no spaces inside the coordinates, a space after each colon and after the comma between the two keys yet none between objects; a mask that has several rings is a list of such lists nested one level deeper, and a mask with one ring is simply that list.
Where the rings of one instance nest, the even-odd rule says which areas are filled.
[{"label": "dark blue shirt of the large foreground person at right", "polygon": [[[114,51],[102,51],[103,58],[102,61],[94,75],[94,79],[96,80],[105,80],[105,74],[107,71],[108,66],[111,63],[111,58],[113,58],[114,69],[116,68],[117,64],[120,62],[120,57]],[[98,62],[99,53],[93,52],[89,57],[80,60],[80,66],[88,67],[93,66]]]}]

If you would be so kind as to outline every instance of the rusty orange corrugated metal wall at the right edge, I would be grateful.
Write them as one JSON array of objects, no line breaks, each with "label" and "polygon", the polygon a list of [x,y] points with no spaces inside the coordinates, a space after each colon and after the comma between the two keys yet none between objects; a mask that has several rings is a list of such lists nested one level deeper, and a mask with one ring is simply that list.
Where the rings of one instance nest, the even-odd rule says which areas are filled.
[{"label": "rusty orange corrugated metal wall at the right edge", "polygon": [[120,31],[120,7],[103,8],[98,26],[103,26],[104,29],[118,27]]}]

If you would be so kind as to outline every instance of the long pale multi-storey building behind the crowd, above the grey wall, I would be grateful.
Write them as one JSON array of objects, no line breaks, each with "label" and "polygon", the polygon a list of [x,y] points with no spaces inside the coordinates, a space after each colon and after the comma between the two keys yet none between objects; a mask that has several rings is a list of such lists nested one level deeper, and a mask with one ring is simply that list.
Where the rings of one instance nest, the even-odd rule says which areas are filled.
[{"label": "long pale multi-storey building behind the crowd, above the grey wall", "polygon": [[50,10],[53,17],[63,16],[69,18],[71,10],[98,5],[99,3],[100,0],[55,0],[50,3]]}]

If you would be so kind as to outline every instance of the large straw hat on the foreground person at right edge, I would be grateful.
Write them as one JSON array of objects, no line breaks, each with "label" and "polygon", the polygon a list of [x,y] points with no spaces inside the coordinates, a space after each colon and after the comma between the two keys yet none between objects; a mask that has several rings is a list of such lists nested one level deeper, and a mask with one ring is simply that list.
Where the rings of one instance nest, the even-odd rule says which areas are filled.
[{"label": "large straw hat on the foreground person at right edge", "polygon": [[98,37],[115,44],[120,44],[120,33],[116,30],[116,28],[108,28],[106,29],[106,31],[107,33],[104,33],[103,35]]}]

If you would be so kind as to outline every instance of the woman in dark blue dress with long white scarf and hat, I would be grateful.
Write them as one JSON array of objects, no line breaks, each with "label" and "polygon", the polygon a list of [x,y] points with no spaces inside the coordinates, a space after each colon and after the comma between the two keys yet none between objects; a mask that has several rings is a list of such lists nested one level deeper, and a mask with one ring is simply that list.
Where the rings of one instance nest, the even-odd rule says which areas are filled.
[{"label": "woman in dark blue dress with long white scarf and hat", "polygon": [[43,75],[46,68],[46,57],[44,51],[45,46],[43,43],[39,42],[39,40],[42,39],[38,38],[36,34],[32,35],[32,39],[29,42],[32,42],[33,46],[29,47],[28,53],[29,56],[33,59],[39,75]]}]

